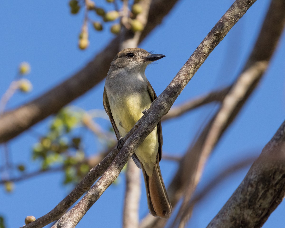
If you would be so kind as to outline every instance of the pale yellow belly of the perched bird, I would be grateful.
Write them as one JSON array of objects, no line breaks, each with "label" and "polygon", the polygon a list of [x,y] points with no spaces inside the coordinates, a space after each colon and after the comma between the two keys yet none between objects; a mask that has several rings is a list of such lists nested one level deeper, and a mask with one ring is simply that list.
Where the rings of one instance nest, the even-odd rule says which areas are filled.
[{"label": "pale yellow belly of the perched bird", "polygon": [[[110,104],[120,136],[124,137],[143,116],[142,111],[150,107],[151,100],[147,91],[144,94],[135,93],[128,97],[118,97],[116,102]],[[144,139],[135,154],[144,164],[145,171],[151,172],[156,162],[158,152],[157,127]]]}]

